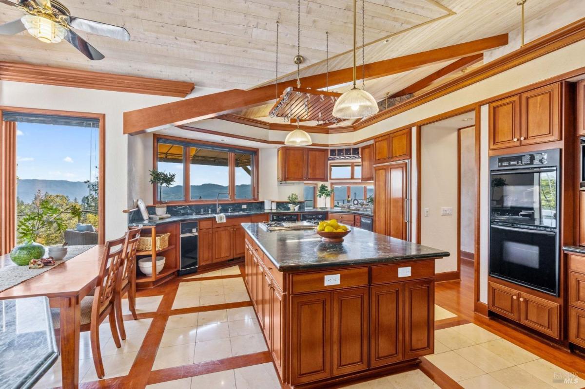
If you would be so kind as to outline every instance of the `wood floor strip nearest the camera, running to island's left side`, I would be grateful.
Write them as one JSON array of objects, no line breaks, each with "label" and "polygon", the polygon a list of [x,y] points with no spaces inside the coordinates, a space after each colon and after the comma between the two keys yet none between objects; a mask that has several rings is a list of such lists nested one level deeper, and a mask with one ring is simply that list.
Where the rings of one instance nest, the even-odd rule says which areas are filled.
[{"label": "wood floor strip nearest the camera, running to island's left side", "polygon": [[252,366],[254,364],[267,362],[272,362],[272,356],[270,355],[269,351],[263,351],[260,353],[240,355],[225,359],[212,360],[209,362],[169,367],[168,369],[152,371],[152,373],[150,373],[147,384],[152,385],[167,381],[180,380],[181,378],[201,376],[202,374],[216,373],[218,371],[239,369],[240,367]]}]

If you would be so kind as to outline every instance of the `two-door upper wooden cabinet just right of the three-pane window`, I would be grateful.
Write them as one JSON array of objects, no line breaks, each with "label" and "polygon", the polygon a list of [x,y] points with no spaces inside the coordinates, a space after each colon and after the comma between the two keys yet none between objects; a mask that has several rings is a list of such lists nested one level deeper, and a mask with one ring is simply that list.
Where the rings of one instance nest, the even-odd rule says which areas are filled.
[{"label": "two-door upper wooden cabinet just right of the three-pane window", "polygon": [[278,149],[279,181],[328,181],[329,150],[281,147]]}]

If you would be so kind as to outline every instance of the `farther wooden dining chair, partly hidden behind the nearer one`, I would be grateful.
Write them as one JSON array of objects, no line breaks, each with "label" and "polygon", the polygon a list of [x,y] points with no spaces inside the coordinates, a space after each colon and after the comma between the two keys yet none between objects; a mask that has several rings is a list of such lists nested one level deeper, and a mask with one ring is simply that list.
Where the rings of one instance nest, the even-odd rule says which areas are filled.
[{"label": "farther wooden dining chair, partly hidden behind the nearer one", "polygon": [[122,314],[122,297],[128,293],[128,307],[132,312],[132,317],[136,320],[136,249],[138,239],[140,238],[141,228],[135,228],[126,233],[126,242],[124,245],[124,258],[120,265],[118,282],[114,290],[114,307],[116,311],[116,321],[118,321],[118,331],[122,340],[126,339],[126,329],[124,328],[124,318]]}]

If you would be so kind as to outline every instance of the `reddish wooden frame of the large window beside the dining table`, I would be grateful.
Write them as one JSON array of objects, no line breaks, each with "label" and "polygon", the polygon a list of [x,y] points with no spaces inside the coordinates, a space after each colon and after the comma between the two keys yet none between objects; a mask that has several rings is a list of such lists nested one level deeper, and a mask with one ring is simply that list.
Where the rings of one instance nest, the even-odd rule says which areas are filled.
[{"label": "reddish wooden frame of the large window beside the dining table", "polygon": [[[98,244],[103,245],[105,244],[105,226],[106,226],[106,197],[105,197],[105,188],[106,188],[106,154],[105,154],[105,144],[106,144],[106,116],[104,113],[91,113],[91,112],[75,112],[75,111],[62,111],[62,110],[52,110],[52,109],[37,109],[37,108],[24,108],[24,107],[10,107],[10,106],[0,106],[0,125],[4,124],[4,120],[2,120],[2,112],[19,112],[19,113],[37,113],[37,114],[47,114],[52,116],[74,116],[74,117],[85,117],[91,119],[98,119],[99,120],[99,127],[98,127]],[[0,145],[0,147],[4,150],[5,147],[9,145]],[[15,155],[16,158],[16,155]],[[16,166],[16,165],[15,165]],[[15,167],[16,169],[16,167]],[[2,177],[1,179],[4,179]],[[16,197],[14,199],[16,205]],[[16,213],[15,213],[16,217]],[[14,220],[15,228],[16,228],[16,220]],[[15,239],[16,239],[16,230],[15,230]],[[4,240],[4,234],[0,235],[0,240]],[[16,244],[14,242],[13,244]],[[10,245],[10,243],[9,243]]]}]

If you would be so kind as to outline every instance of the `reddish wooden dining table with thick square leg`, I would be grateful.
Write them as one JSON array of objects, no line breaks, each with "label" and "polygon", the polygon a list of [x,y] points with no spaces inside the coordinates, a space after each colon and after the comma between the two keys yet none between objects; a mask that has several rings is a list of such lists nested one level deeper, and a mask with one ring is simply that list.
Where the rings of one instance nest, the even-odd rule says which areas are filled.
[{"label": "reddish wooden dining table with thick square leg", "polygon": [[[60,308],[61,373],[63,388],[79,384],[79,334],[81,300],[97,283],[104,245],[97,245],[53,269],[0,292],[0,300],[47,296],[51,308]],[[0,256],[0,267],[16,266],[9,255]]]}]

